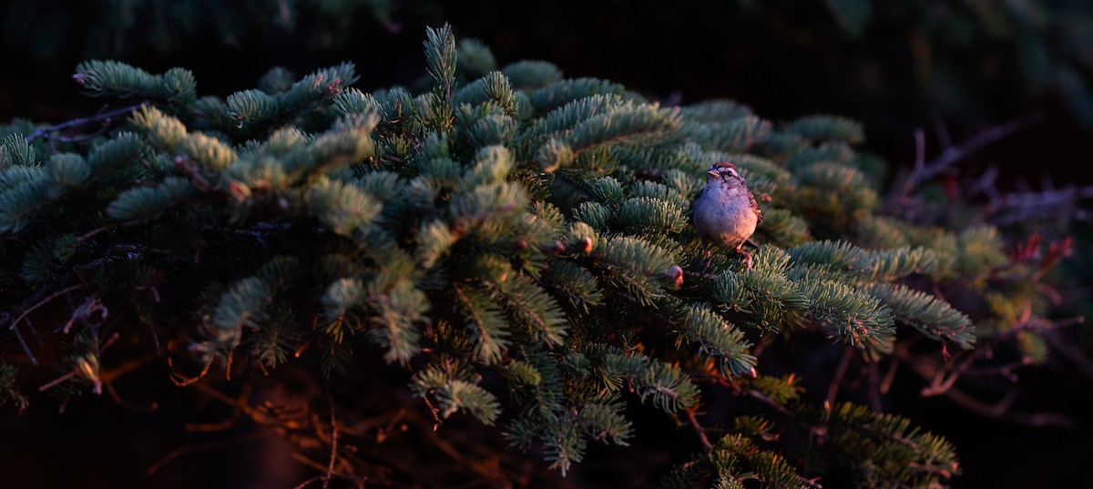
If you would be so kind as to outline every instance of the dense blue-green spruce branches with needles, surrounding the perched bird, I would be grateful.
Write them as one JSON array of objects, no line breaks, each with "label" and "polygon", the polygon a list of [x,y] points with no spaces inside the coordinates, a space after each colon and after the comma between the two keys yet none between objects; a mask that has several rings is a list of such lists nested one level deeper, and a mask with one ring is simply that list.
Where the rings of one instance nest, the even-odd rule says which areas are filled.
[{"label": "dense blue-green spruce branches with needles, surrounding the perched bird", "polygon": [[[1029,286],[1039,275],[997,275],[1011,263],[996,230],[880,216],[855,121],[661,107],[458,46],[447,26],[426,33],[423,93],[352,88],[344,63],[299,80],[273,69],[221,99],[184,69],[81,63],[85,93],[140,106],[75,143],[2,128],[0,266],[15,278],[0,325],[17,341],[0,357],[0,403],[27,403],[15,365],[40,350],[27,336],[67,348],[42,359],[77,373],[63,385],[97,390],[99,359],[141,355],[107,349],[113,335],[155,338],[179,384],[286,362],[340,382],[381,359],[411,372],[412,408],[436,426],[500,425],[562,473],[589,441],[630,443],[635,409],[694,420],[729,386],[766,399],[766,415],[737,417],[666,487],[809,487],[839,469],[857,487],[939,487],[959,474],[940,437],[823,405],[792,375],[764,375],[756,346],[842,343],[862,365],[919,337],[971,350],[972,314],[991,341],[1009,337],[1006,299],[1037,313],[1045,301]],[[766,216],[751,269],[690,225],[720,160]],[[28,321],[47,303],[63,329]],[[107,309],[132,314],[107,321]],[[1035,331],[1014,334],[1043,355]],[[780,424],[809,427],[812,443],[779,448]]]}]

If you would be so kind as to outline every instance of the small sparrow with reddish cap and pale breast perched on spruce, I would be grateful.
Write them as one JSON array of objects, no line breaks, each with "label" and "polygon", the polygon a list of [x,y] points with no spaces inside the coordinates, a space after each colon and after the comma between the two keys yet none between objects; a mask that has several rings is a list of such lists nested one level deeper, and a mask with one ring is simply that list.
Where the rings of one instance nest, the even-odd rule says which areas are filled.
[{"label": "small sparrow with reddish cap and pale breast perched on spruce", "polygon": [[691,204],[694,227],[715,244],[743,254],[744,266],[750,270],[751,254],[741,246],[763,222],[755,195],[731,163],[715,163],[706,175],[706,187]]}]

